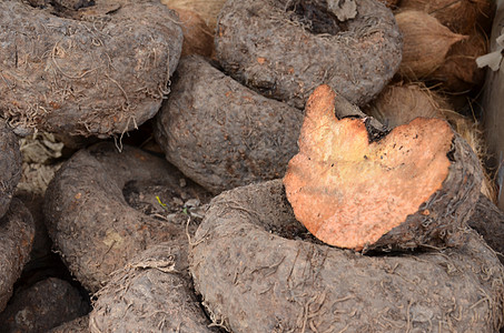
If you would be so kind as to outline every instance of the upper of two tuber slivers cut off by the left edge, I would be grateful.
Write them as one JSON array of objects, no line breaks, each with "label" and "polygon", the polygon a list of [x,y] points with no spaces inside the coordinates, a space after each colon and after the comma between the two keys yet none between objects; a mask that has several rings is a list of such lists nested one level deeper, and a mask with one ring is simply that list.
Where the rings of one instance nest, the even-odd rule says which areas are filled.
[{"label": "upper of two tuber slivers cut off by the left edge", "polygon": [[9,209],[12,193],[21,179],[21,162],[18,138],[0,119],[0,218]]}]

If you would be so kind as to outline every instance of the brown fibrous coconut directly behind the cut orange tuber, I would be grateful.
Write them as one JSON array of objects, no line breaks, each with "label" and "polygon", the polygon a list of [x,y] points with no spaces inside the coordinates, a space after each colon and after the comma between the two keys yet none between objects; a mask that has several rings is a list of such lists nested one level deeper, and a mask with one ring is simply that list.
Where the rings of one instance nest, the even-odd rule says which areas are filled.
[{"label": "brown fibrous coconut directly behind the cut orange tuber", "polygon": [[441,102],[422,83],[399,83],[387,85],[364,112],[383,124],[395,128],[417,117],[442,118]]}]

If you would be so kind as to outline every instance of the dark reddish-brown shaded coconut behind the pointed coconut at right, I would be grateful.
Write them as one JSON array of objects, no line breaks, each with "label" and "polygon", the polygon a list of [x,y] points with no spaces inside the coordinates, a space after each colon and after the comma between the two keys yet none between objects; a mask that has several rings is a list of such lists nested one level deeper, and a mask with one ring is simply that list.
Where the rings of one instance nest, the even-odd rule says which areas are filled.
[{"label": "dark reddish-brown shaded coconut behind the pointed coconut at right", "polygon": [[476,58],[486,54],[488,40],[483,31],[474,29],[468,39],[455,43],[445,62],[432,74],[449,92],[467,92],[485,81],[485,69],[478,68]]}]

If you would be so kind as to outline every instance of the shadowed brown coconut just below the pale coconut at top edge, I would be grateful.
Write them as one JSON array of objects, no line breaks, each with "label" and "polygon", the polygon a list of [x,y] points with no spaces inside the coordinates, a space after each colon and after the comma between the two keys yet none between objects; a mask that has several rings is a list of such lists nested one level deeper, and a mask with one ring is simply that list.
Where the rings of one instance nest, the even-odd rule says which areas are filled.
[{"label": "shadowed brown coconut just below the pale coconut at top edge", "polygon": [[174,8],[177,11],[184,33],[181,56],[201,54],[210,57],[214,52],[214,33],[205,20],[192,10]]}]

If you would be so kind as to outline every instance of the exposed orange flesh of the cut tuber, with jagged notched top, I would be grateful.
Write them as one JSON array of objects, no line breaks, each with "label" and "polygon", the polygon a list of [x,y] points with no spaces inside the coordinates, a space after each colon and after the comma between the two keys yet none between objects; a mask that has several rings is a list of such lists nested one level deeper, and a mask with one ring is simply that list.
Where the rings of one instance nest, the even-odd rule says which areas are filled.
[{"label": "exposed orange flesh of the cut tuber, with jagged notched top", "polygon": [[284,184],[309,232],[359,251],[443,186],[454,134],[444,120],[417,118],[369,143],[364,120],[336,119],[335,97],[327,85],[310,95]]}]

